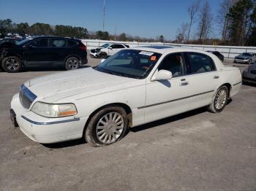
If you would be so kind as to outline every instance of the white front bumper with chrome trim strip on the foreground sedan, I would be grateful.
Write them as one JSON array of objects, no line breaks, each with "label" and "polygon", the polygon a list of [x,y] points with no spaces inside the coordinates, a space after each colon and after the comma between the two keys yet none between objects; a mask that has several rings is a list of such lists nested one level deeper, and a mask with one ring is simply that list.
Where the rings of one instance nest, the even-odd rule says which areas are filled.
[{"label": "white front bumper with chrome trim strip on the foreground sedan", "polygon": [[88,117],[41,117],[20,104],[18,94],[12,98],[11,108],[20,130],[33,141],[50,144],[80,139]]}]

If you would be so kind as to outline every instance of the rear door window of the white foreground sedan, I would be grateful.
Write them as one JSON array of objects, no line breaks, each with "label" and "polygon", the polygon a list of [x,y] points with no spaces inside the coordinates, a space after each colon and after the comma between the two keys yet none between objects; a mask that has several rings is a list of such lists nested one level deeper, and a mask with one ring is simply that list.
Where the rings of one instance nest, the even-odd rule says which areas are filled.
[{"label": "rear door window of the white foreground sedan", "polygon": [[208,56],[197,52],[187,52],[187,74],[199,74],[208,71],[215,71],[214,61]]}]

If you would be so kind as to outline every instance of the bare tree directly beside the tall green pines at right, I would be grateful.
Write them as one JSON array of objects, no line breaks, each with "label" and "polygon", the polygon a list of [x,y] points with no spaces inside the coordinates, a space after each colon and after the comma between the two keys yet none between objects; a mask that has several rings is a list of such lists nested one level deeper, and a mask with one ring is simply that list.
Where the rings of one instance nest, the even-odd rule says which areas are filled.
[{"label": "bare tree directly beside the tall green pines at right", "polygon": [[227,40],[227,26],[230,24],[230,19],[227,17],[230,7],[238,0],[222,0],[222,3],[219,4],[219,12],[217,14],[217,23],[222,34],[222,40]]}]

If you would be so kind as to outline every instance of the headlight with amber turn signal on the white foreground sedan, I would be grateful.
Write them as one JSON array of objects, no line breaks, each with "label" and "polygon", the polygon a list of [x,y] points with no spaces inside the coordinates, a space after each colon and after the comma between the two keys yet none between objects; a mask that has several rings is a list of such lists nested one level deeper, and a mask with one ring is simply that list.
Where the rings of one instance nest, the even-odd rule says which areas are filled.
[{"label": "headlight with amber turn signal on the white foreground sedan", "polygon": [[47,104],[39,101],[32,106],[31,111],[43,117],[67,117],[78,113],[75,104]]}]

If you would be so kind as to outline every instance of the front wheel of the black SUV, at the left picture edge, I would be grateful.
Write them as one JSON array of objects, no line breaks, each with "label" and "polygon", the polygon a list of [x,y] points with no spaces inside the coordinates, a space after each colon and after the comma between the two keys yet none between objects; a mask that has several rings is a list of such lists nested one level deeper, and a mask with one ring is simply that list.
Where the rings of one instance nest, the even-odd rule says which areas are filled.
[{"label": "front wheel of the black SUV, at the left picture edge", "polygon": [[22,69],[22,62],[17,56],[9,56],[1,61],[1,68],[9,73],[15,73]]}]

